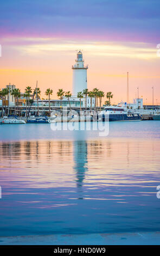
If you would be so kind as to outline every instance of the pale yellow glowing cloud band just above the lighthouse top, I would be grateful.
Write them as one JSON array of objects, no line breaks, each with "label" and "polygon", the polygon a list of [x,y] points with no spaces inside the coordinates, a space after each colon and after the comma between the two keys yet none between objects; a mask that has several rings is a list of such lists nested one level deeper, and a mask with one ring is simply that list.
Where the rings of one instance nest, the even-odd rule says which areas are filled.
[{"label": "pale yellow glowing cloud band just above the lighthouse top", "polygon": [[88,56],[157,58],[156,47],[144,42],[80,41],[59,38],[6,38],[3,42],[4,45],[9,44],[10,49],[17,50],[25,56],[47,56],[52,52],[73,54],[76,49],[83,49]]}]

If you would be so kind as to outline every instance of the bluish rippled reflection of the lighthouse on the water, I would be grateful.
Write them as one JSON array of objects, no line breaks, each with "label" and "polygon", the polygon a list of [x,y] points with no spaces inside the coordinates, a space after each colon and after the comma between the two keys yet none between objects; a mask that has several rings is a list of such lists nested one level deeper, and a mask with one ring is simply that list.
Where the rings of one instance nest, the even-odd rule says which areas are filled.
[{"label": "bluish rippled reflection of the lighthouse on the water", "polygon": [[73,145],[73,170],[76,173],[76,186],[78,187],[79,199],[82,198],[82,186],[85,179],[87,167],[87,142],[75,141]]}]

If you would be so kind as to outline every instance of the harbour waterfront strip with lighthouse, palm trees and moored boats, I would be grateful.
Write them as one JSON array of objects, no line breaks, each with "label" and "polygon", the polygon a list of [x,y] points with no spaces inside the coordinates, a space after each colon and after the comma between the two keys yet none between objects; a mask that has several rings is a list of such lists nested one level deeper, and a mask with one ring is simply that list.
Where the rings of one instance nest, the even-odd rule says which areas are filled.
[{"label": "harbour waterfront strip with lighthouse, palm trees and moored boats", "polygon": [[129,72],[127,72],[127,100],[112,104],[112,92],[106,93],[107,101],[102,104],[105,93],[98,88],[91,91],[87,88],[88,65],[84,64],[82,51],[76,53],[72,65],[72,92],[63,89],[57,91],[58,100],[51,100],[53,89],[48,88],[45,94],[48,99],[41,99],[41,90],[36,81],[36,88],[26,87],[25,92],[13,84],[0,90],[1,124],[40,124],[64,122],[105,121],[140,121],[159,120],[160,106],[154,105],[152,87],[152,105],[143,105],[143,97],[129,100]]}]

